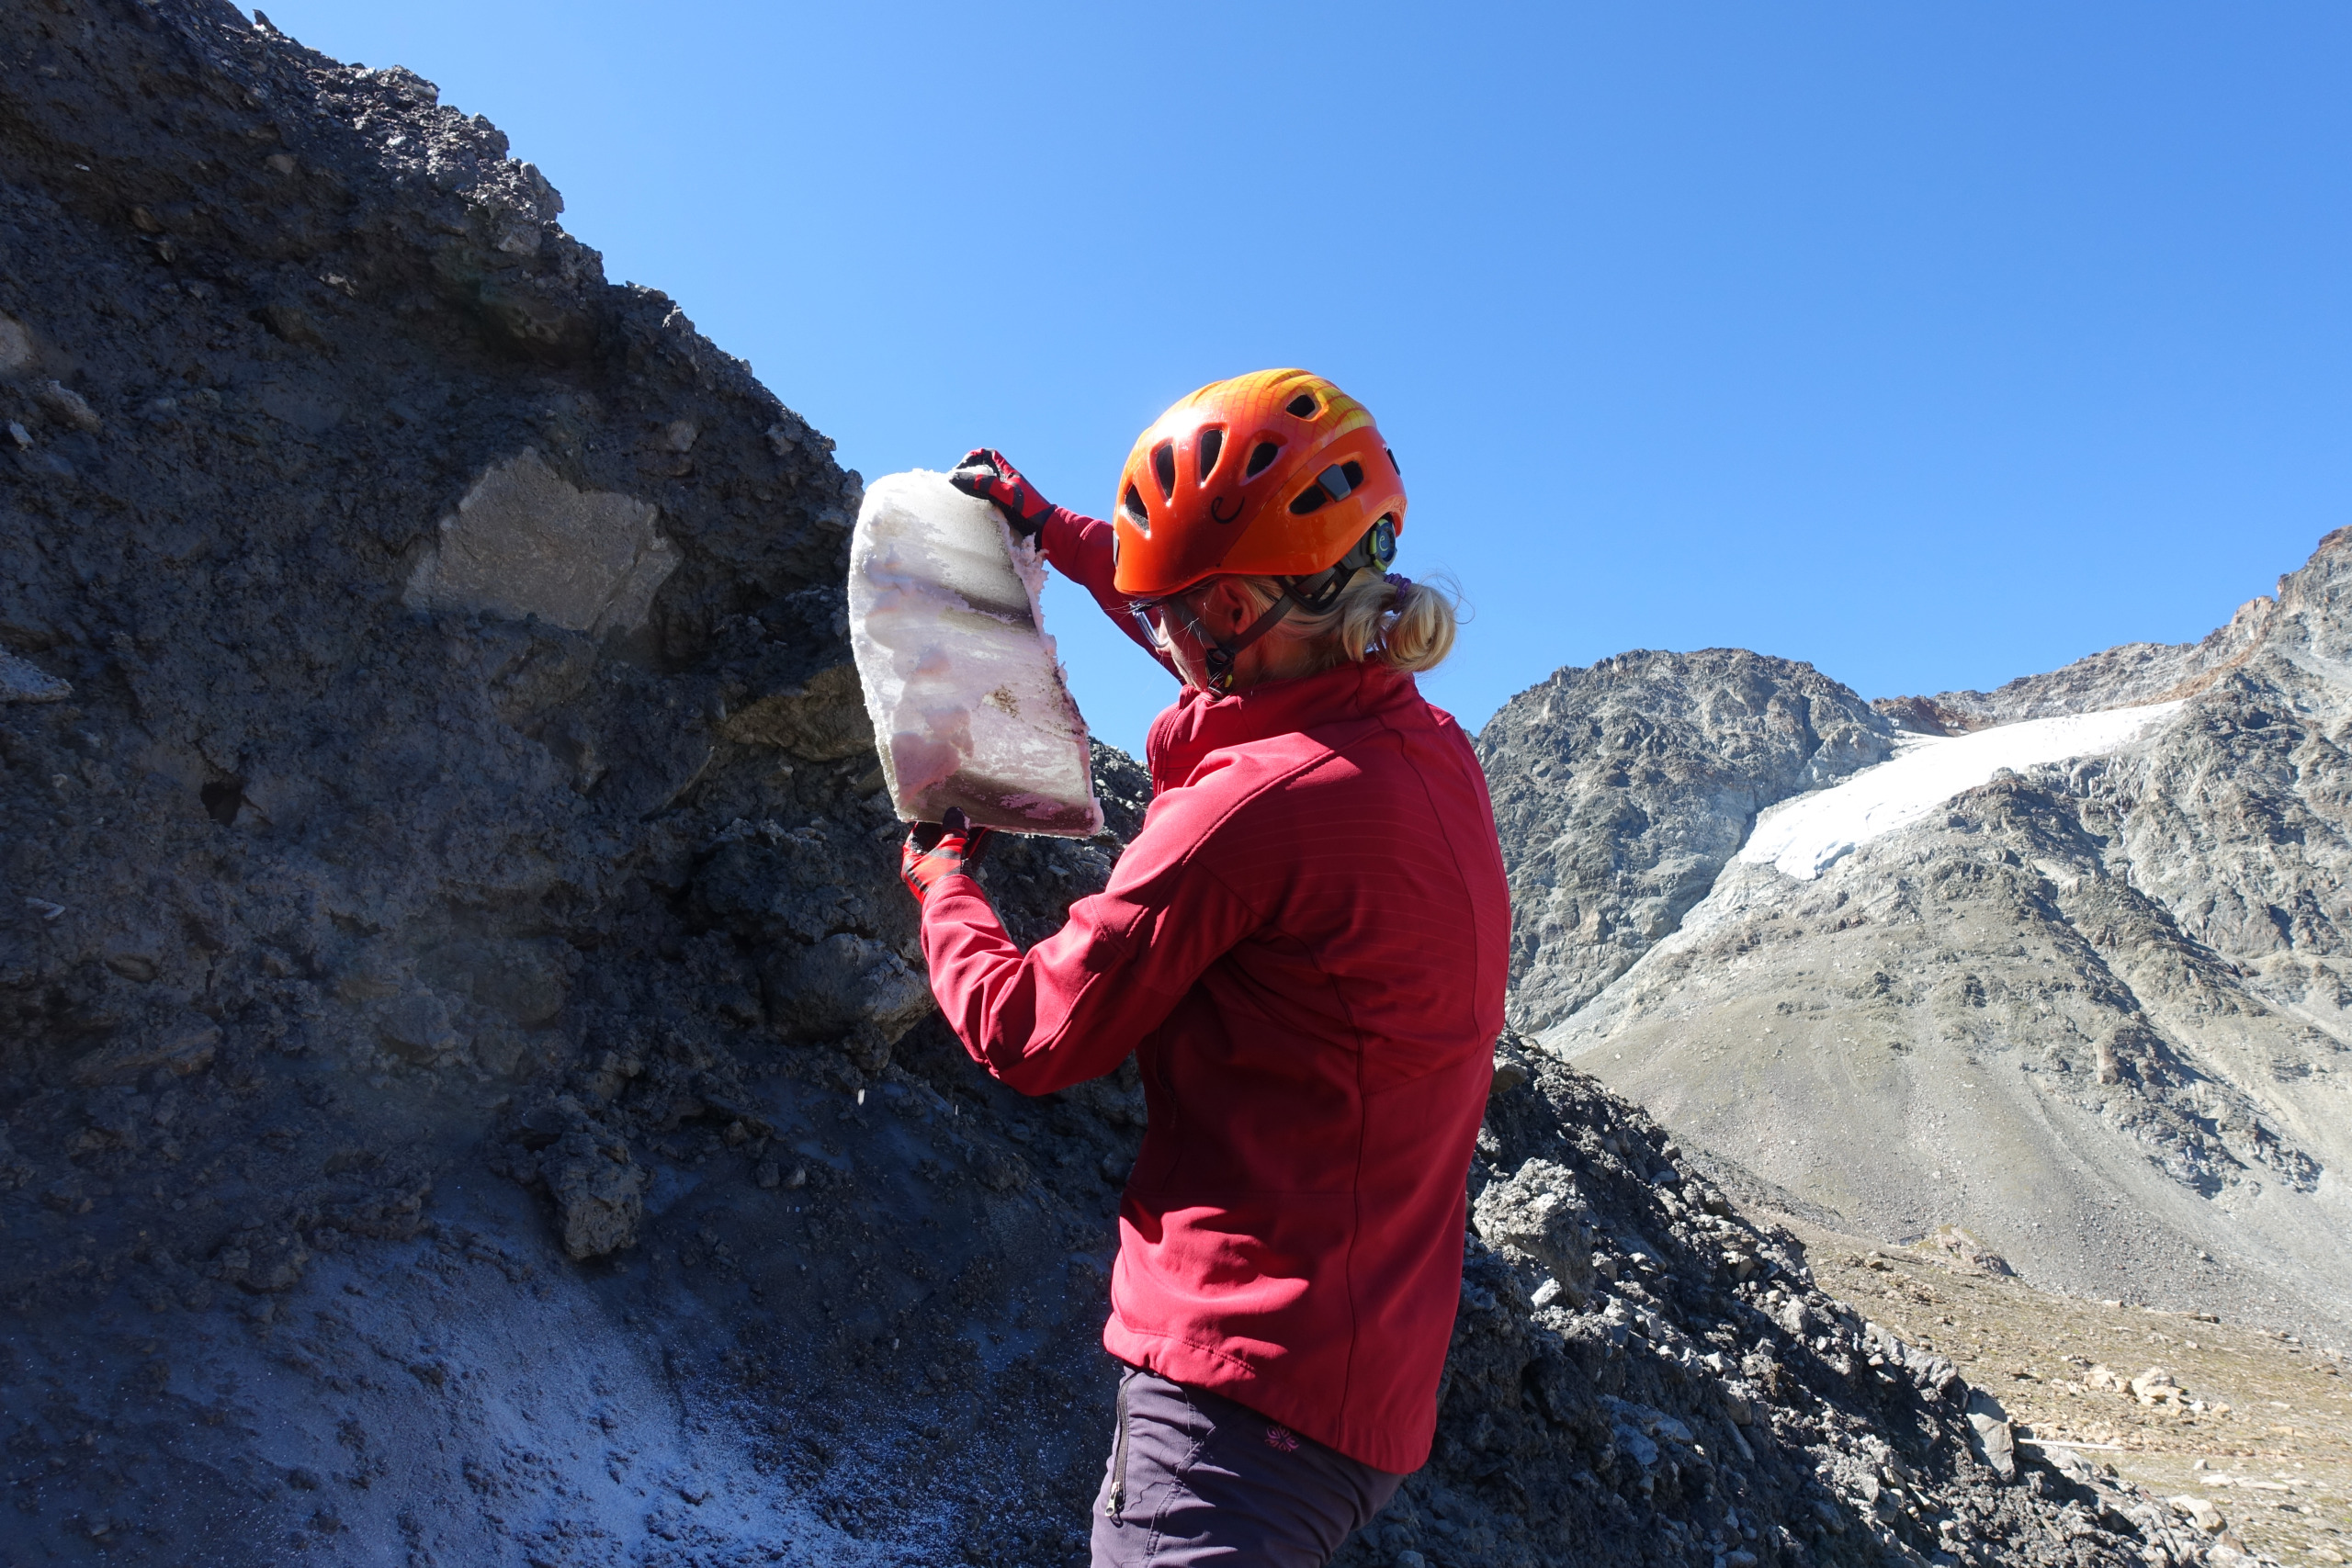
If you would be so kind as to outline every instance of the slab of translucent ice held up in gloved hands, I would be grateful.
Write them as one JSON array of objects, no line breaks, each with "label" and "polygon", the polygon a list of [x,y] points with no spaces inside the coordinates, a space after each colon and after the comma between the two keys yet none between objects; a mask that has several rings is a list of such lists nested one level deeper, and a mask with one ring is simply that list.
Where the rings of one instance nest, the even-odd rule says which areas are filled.
[{"label": "slab of translucent ice held up in gloved hands", "polygon": [[948,475],[866,487],[849,541],[849,644],[882,778],[908,823],[948,806],[985,827],[1103,830],[1087,722],[1037,595],[1044,562]]}]

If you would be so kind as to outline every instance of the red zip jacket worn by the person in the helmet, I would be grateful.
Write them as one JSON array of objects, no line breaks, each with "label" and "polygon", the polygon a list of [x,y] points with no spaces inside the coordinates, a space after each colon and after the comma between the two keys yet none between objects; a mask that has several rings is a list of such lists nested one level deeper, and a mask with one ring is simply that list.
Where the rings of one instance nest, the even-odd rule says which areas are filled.
[{"label": "red zip jacket worn by the person in the helmet", "polygon": [[[1110,529],[1047,555],[1110,597]],[[1110,886],[1021,952],[981,886],[922,914],[931,992],[1023,1093],[1143,1070],[1103,1345],[1376,1469],[1418,1469],[1503,1027],[1486,778],[1409,675],[1350,663],[1152,724]]]}]

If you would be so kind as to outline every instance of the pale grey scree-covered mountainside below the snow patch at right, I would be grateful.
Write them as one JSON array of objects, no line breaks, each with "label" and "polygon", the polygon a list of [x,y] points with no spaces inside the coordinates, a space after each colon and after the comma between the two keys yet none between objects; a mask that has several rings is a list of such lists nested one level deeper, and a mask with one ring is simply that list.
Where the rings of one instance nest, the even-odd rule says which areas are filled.
[{"label": "pale grey scree-covered mountainside below the snow patch at right", "polygon": [[1997,776],[1813,882],[1736,863],[1550,1048],[1849,1229],[1959,1222],[2039,1284],[2340,1333],[2347,583],[2333,534],[2161,689],[2082,677],[2138,654],[2004,686],[2042,717],[2209,661],[2124,752]]}]

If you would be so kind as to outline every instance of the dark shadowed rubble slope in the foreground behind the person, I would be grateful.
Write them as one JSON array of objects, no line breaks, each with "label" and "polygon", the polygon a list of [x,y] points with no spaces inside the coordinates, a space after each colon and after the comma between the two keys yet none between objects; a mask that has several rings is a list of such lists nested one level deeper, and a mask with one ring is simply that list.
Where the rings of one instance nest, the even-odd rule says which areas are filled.
[{"label": "dark shadowed rubble slope in the foreground behind the person", "polygon": [[[209,0],[0,45],[0,1554],[1077,1561],[1143,1095],[929,1013],[856,475],[414,73]],[[1724,689],[1665,773],[1882,736]],[[1023,940],[1136,830],[1094,769],[1105,837],[990,856]],[[2166,1540],[1997,1488],[1637,1112],[1503,1079],[1439,1458],[1350,1561]]]}]

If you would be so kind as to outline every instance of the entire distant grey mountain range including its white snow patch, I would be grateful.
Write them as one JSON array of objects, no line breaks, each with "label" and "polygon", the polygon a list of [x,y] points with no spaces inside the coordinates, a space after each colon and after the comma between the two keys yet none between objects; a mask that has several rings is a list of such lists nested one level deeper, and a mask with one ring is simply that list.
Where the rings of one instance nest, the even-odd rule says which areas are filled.
[{"label": "entire distant grey mountain range including its white snow patch", "polygon": [[1849,1229],[2340,1326],[2352,529],[2197,642],[1849,698],[1710,651],[1505,708],[1519,1016]]}]

